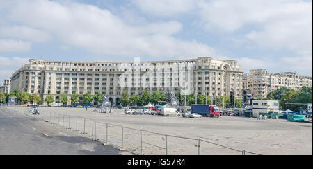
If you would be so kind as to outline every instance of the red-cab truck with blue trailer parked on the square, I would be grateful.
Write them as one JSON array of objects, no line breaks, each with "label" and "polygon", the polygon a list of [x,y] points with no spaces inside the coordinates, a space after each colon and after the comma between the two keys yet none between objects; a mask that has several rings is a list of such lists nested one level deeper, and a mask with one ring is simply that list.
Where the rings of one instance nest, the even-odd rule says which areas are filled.
[{"label": "red-cab truck with blue trailer parked on the square", "polygon": [[191,105],[191,113],[207,117],[220,117],[220,109],[216,105]]}]

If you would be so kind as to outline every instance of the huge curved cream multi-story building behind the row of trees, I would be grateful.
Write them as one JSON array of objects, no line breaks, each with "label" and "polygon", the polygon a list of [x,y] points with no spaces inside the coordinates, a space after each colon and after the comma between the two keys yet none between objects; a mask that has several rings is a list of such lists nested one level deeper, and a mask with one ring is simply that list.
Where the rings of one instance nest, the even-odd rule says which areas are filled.
[{"label": "huge curved cream multi-story building behind the row of trees", "polygon": [[[214,60],[199,57],[193,60],[159,62],[62,62],[29,60],[13,73],[11,90],[38,93],[43,100],[53,94],[56,102],[65,92],[69,97],[86,92],[101,92],[113,105],[120,103],[124,91],[129,95],[147,89],[181,91],[184,94],[204,94],[211,98],[230,95],[241,97],[241,66],[235,60]],[[70,100],[70,99],[69,99]],[[70,103],[69,103],[70,104]]]}]

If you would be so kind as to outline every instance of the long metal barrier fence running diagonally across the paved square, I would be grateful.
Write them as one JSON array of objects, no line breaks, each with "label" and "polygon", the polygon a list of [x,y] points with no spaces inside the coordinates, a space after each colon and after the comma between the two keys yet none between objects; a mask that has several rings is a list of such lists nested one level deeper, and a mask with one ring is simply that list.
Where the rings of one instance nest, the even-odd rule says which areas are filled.
[{"label": "long metal barrier fence running diagonally across the paved square", "polygon": [[[21,112],[17,107],[6,107]],[[27,116],[29,112],[22,112]],[[115,145],[120,150],[145,155],[261,155],[246,150],[236,150],[225,145],[212,143],[204,139],[193,139],[184,136],[161,134],[138,130],[122,125],[103,123],[92,118],[70,116],[55,112],[44,112],[31,115],[40,118],[56,127],[87,134],[91,139],[102,141],[106,145]]]}]

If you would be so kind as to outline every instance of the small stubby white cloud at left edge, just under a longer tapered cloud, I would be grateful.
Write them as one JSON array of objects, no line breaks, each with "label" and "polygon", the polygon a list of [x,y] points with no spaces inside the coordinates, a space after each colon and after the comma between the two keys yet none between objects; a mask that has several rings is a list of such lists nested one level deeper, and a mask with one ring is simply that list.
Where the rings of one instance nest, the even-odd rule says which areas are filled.
[{"label": "small stubby white cloud at left edge, just under a longer tapered cloud", "polygon": [[0,39],[0,52],[25,52],[29,51],[31,43],[22,40]]}]

